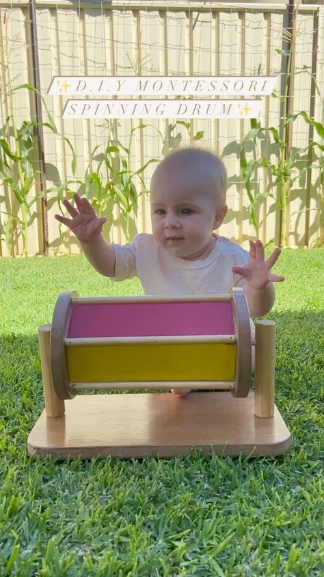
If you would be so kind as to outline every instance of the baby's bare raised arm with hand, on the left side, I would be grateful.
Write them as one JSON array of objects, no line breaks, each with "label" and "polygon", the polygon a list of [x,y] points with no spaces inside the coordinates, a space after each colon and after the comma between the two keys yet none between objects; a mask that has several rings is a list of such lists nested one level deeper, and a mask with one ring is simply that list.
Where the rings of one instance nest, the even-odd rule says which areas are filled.
[{"label": "baby's bare raised arm with hand, on the left side", "polygon": [[109,243],[106,243],[101,234],[106,219],[103,217],[98,219],[94,208],[86,198],[81,198],[77,194],[73,198],[77,208],[68,200],[63,201],[72,219],[62,217],[61,214],[55,214],[55,219],[74,232],[87,260],[98,273],[110,277],[115,276],[115,251]]}]

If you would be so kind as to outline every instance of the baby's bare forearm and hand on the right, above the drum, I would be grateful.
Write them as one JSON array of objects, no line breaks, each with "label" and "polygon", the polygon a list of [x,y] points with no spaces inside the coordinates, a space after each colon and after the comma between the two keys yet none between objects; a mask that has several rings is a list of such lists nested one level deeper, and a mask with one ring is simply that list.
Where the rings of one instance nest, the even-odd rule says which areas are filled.
[{"label": "baby's bare forearm and hand on the right, above the drum", "polygon": [[275,249],[265,260],[265,249],[261,241],[250,241],[249,259],[246,265],[232,267],[232,271],[247,280],[246,297],[252,317],[262,317],[271,310],[275,301],[273,282],[282,282],[283,276],[271,273],[271,268],[280,255]]}]

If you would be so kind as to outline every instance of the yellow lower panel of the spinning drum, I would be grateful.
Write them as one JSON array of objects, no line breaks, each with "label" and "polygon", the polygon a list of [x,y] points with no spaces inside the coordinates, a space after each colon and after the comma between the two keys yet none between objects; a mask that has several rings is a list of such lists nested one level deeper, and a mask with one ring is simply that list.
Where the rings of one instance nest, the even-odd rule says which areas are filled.
[{"label": "yellow lower panel of the spinning drum", "polygon": [[70,382],[234,380],[236,345],[69,347]]}]

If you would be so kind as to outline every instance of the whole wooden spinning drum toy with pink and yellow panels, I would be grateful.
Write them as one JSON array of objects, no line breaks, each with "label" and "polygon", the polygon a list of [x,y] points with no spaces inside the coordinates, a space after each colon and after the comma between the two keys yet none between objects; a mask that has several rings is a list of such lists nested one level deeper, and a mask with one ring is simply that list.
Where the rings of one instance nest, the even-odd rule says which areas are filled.
[{"label": "whole wooden spinning drum toy with pink and yellow panels", "polygon": [[[38,330],[45,410],[29,434],[29,453],[174,456],[192,447],[230,455],[284,452],[291,435],[273,399],[274,330],[272,321],[257,321],[252,343],[243,289],[167,298],[62,293],[52,324]],[[195,392],[184,398],[77,395],[83,389],[181,388]]]}]

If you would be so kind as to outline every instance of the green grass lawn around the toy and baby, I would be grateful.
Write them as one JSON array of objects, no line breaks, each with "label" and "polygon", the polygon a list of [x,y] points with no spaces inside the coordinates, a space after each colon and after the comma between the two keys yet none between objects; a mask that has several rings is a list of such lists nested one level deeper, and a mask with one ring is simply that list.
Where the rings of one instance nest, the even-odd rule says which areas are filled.
[{"label": "green grass lawn around the toy and baby", "polygon": [[55,463],[27,454],[43,408],[37,327],[60,291],[141,289],[81,256],[0,259],[1,576],[323,576],[323,265],[324,249],[287,249],[275,267],[288,453]]}]

